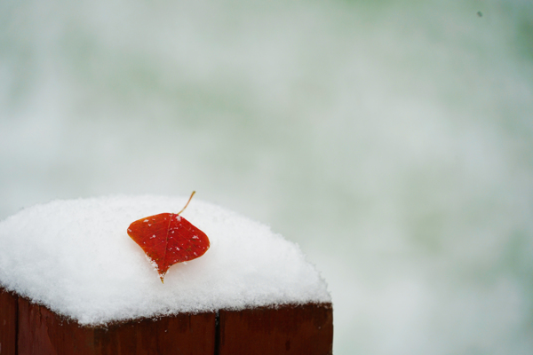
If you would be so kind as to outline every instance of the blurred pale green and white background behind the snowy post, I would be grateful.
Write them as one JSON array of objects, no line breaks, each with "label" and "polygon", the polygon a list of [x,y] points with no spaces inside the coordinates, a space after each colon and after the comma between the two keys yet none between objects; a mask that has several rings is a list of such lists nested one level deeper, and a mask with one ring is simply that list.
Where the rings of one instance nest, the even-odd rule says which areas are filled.
[{"label": "blurred pale green and white background behind the snowy post", "polygon": [[192,190],[298,242],[335,354],[533,353],[533,2],[0,2],[0,218]]}]

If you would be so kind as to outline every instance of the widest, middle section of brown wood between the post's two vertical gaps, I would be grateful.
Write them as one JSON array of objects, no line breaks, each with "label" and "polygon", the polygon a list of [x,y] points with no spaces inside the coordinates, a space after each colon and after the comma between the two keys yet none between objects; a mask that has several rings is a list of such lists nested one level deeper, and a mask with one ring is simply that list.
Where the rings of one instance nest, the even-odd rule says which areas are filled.
[{"label": "widest, middle section of brown wood between the post's two vertical gaps", "polygon": [[216,313],[81,327],[19,299],[18,355],[212,355]]}]

